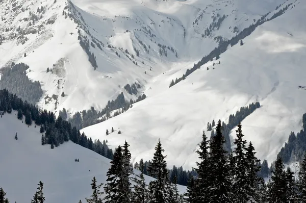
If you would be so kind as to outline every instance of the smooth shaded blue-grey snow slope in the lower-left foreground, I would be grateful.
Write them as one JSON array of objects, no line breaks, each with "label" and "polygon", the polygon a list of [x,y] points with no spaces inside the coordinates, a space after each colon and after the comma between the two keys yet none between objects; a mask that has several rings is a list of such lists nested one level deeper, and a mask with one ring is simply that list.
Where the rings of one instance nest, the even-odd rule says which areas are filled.
[{"label": "smooth shaded blue-grey snow slope in the lower-left foreground", "polygon": [[39,181],[44,183],[46,202],[79,202],[91,195],[93,176],[98,183],[106,181],[109,159],[70,141],[55,149],[41,145],[39,128],[28,128],[16,112],[0,118],[0,132],[0,187],[10,202],[30,202]]}]

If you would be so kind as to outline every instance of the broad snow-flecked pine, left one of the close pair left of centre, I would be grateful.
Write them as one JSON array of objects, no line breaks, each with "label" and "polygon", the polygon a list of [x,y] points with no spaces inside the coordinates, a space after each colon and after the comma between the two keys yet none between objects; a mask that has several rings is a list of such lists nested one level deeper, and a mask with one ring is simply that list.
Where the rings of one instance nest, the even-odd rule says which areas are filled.
[{"label": "broad snow-flecked pine, left one of the close pair left of centre", "polygon": [[119,145],[115,149],[113,155],[113,160],[111,161],[111,167],[107,172],[107,183],[104,187],[105,193],[105,203],[117,203],[124,202],[124,181],[122,180],[122,170],[123,170],[123,155],[122,148]]}]

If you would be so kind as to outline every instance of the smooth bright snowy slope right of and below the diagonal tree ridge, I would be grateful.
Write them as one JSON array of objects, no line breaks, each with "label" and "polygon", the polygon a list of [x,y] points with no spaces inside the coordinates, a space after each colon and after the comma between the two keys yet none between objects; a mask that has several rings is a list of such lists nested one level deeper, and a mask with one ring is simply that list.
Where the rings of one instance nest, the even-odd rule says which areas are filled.
[{"label": "smooth bright snowy slope right of and below the diagonal tree ridge", "polygon": [[[243,46],[228,47],[219,60],[164,89],[193,64],[177,63],[150,81],[145,100],[83,131],[93,138],[108,139],[113,146],[126,139],[137,146],[132,149],[135,160],[149,160],[161,138],[168,163],[190,168],[195,166],[194,151],[207,122],[221,119],[227,123],[228,116],[240,107],[260,102],[262,107],[243,120],[243,133],[261,160],[273,161],[290,132],[301,129],[301,117],[306,112],[306,90],[298,88],[306,86],[306,27],[301,20],[306,2],[289,3],[294,5],[258,27],[243,40]],[[219,61],[221,64],[213,66]],[[106,129],[112,127],[120,128],[122,134],[106,136]]]}]

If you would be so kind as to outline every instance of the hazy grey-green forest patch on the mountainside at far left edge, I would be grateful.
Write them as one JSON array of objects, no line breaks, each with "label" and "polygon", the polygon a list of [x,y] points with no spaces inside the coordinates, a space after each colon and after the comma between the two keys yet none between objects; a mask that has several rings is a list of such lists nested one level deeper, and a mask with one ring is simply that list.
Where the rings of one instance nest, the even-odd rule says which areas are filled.
[{"label": "hazy grey-green forest patch on the mountainside at far left edge", "polygon": [[0,89],[8,89],[21,99],[36,104],[43,92],[38,81],[29,80],[26,73],[28,68],[30,67],[24,63],[12,63],[11,66],[2,68]]}]

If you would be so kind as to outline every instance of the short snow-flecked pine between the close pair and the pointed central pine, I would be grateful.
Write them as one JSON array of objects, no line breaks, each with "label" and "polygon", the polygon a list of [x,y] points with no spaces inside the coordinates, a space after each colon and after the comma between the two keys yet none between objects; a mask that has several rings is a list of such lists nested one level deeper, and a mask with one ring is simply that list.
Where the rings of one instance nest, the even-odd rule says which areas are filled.
[{"label": "short snow-flecked pine between the close pair and the pointed central pine", "polygon": [[148,190],[144,180],[144,163],[142,159],[139,161],[138,167],[136,169],[138,169],[140,173],[133,177],[133,181],[135,183],[133,191],[133,202],[145,203],[148,202]]}]

